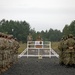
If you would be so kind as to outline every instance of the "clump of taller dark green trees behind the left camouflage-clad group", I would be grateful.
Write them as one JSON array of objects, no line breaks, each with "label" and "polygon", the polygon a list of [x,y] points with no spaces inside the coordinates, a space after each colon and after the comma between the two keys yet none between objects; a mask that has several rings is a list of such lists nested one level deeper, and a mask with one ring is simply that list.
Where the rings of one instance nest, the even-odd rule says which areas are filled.
[{"label": "clump of taller dark green trees behind the left camouflage-clad group", "polygon": [[26,42],[30,25],[26,21],[1,20],[0,32],[12,34],[18,41]]}]

